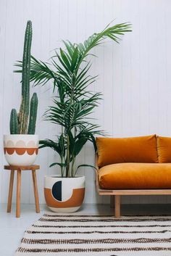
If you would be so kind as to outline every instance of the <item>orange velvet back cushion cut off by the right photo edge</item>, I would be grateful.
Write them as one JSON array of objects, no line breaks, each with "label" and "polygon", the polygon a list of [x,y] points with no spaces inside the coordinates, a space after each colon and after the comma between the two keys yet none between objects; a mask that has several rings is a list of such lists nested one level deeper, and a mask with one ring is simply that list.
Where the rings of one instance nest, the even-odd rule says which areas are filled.
[{"label": "orange velvet back cushion cut off by the right photo edge", "polygon": [[171,138],[157,136],[159,162],[171,162]]}]

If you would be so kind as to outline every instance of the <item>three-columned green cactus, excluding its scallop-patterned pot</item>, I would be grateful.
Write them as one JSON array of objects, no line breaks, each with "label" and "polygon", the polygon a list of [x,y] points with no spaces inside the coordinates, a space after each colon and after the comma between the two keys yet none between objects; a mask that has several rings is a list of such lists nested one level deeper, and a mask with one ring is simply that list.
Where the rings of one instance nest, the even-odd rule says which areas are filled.
[{"label": "three-columned green cactus, excluding its scallop-patterned pot", "polygon": [[[30,49],[32,41],[32,22],[28,20],[25,30],[25,42],[22,56],[22,100],[20,104],[20,112],[17,117],[16,110],[12,110],[10,117],[10,133],[11,134],[34,134],[36,128],[36,116],[38,108],[37,94],[33,94],[30,102]],[[30,120],[29,118],[30,107]]]}]

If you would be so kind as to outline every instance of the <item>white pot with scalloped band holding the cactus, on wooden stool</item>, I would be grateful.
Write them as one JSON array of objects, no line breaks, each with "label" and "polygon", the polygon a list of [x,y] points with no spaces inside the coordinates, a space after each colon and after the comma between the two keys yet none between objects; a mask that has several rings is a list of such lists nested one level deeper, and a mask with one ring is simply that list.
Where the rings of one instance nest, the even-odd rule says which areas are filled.
[{"label": "white pot with scalloped band holding the cactus, on wooden stool", "polygon": [[33,165],[38,154],[38,135],[4,135],[4,155],[9,165]]}]

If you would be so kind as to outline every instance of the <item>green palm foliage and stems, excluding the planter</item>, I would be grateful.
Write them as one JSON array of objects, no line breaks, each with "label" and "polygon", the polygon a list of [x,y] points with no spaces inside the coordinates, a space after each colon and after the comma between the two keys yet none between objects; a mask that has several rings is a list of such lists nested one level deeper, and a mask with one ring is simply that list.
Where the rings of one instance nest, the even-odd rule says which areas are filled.
[{"label": "green palm foliage and stems, excluding the planter", "polygon": [[[51,166],[59,165],[62,176],[75,176],[75,158],[83,146],[91,141],[96,150],[94,136],[104,135],[99,125],[93,123],[92,113],[99,105],[101,93],[90,89],[97,76],[88,74],[91,68],[88,56],[94,57],[91,50],[103,44],[105,39],[119,43],[121,36],[130,31],[130,23],[109,24],[83,43],[63,41],[64,49],[55,49],[49,63],[32,57],[30,79],[35,86],[44,86],[51,81],[56,94],[44,118],[61,126],[57,141],[40,141],[40,148],[49,147],[59,154],[61,162],[54,162]],[[22,62],[17,62],[17,67],[22,67]],[[20,73],[20,70],[17,72]],[[78,168],[83,166],[93,168],[91,165],[79,165]]]}]

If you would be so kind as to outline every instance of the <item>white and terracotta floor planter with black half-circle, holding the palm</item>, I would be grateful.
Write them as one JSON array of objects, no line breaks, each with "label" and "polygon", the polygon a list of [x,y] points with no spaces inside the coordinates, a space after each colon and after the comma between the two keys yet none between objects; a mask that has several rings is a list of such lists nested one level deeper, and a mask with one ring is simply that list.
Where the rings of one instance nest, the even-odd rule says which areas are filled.
[{"label": "white and terracotta floor planter with black half-circle, holding the palm", "polygon": [[84,194],[85,176],[44,178],[46,204],[54,212],[76,212],[83,203]]}]

